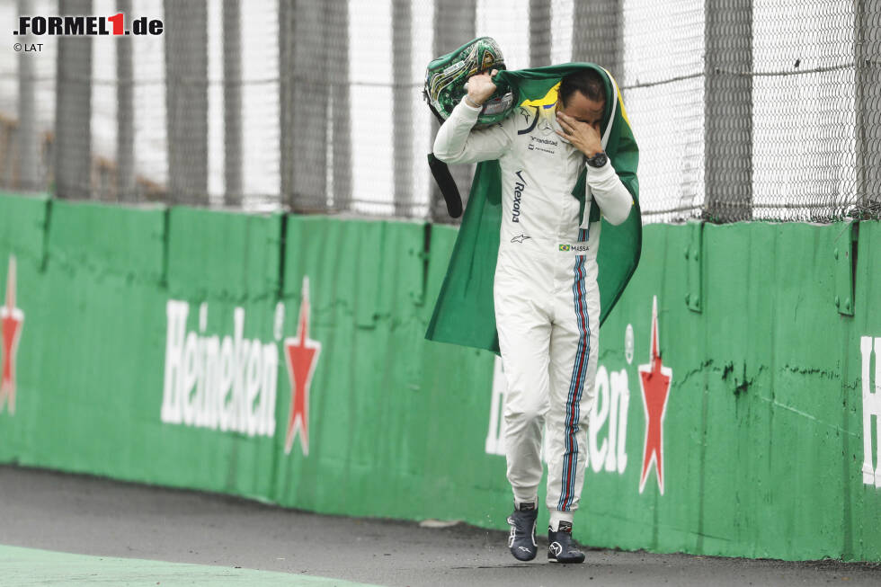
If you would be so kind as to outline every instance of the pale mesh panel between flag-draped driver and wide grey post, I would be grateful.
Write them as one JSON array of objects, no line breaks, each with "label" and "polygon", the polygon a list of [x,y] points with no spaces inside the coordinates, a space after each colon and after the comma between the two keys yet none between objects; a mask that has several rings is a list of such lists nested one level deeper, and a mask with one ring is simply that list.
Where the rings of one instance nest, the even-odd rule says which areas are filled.
[{"label": "pale mesh panel between flag-draped driver and wide grey post", "polygon": [[623,71],[612,73],[640,147],[643,213],[649,221],[694,216],[704,200],[703,0],[652,9],[627,0],[623,22]]}]

